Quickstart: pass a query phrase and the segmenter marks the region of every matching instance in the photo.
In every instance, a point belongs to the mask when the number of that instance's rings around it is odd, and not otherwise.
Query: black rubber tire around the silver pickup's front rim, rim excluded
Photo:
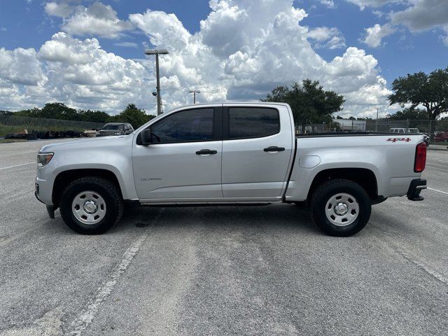
[[[104,199],[106,214],[101,221],[85,224],[78,220],[71,209],[74,197],[79,193],[92,190]],[[99,235],[120,221],[123,215],[123,200],[117,186],[109,180],[99,177],[83,177],[69,184],[62,193],[59,203],[62,219],[71,230],[83,235]],[[81,218],[82,219],[82,218]]]

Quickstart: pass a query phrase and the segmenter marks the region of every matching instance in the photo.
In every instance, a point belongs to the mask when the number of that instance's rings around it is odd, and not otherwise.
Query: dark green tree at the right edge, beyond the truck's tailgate
[[[393,94],[388,96],[391,105],[400,104],[404,108],[411,104],[411,110],[424,106],[426,118],[430,120],[448,112],[448,68],[437,69],[429,75],[422,71],[408,73],[393,80],[392,90]]]

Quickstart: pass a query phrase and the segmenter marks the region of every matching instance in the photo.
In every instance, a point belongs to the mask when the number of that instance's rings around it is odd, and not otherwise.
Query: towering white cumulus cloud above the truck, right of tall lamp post
[[[156,48],[172,48],[170,55],[161,57],[160,68],[165,76],[178,76],[183,90],[165,93],[169,106],[190,102],[191,87],[202,91],[201,102],[256,100],[276,85],[304,78],[321,80],[325,89],[344,93],[345,109],[351,113],[370,111],[373,104],[387,105],[390,92],[379,76],[377,60],[364,50],[348,48],[341,57],[325,62],[315,49],[343,48],[344,37],[334,28],[300,25],[307,13],[291,1],[210,4],[212,11],[196,34],[167,13],[148,11],[130,17]]]

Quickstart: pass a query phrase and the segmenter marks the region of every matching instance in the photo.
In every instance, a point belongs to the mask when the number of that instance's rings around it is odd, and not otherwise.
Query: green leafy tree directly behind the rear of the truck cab
[[[264,102],[288,103],[296,124],[331,123],[332,113],[342,111],[345,99],[334,91],[325,91],[317,80],[304,79],[302,85],[279,86],[267,94]]]

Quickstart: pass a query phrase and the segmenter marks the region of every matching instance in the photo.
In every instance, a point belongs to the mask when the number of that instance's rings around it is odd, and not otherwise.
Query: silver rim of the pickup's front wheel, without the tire
[[[94,225],[106,216],[106,202],[102,195],[95,191],[83,191],[73,198],[71,211],[81,223]]]

